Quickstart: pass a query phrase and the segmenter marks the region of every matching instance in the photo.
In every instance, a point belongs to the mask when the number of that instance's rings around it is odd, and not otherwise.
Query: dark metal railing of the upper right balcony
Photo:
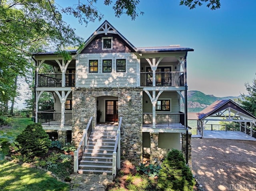
[[[153,73],[140,73],[141,86],[153,86]],[[184,86],[184,72],[156,72],[156,86]]]

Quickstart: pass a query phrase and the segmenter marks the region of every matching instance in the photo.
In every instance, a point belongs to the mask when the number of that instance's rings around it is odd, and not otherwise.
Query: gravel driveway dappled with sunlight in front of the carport
[[[256,141],[193,139],[192,172],[205,191],[256,191]]]

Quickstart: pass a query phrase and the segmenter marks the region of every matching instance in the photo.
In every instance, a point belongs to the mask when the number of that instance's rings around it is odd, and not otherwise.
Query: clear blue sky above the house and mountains
[[[61,6],[78,0],[57,0]],[[219,10],[205,5],[189,10],[179,0],[141,0],[144,12],[132,21],[114,16],[111,6],[98,0],[104,19],[80,25],[72,16],[63,16],[76,33],[87,39],[108,20],[136,47],[181,45],[188,53],[188,90],[218,97],[247,93],[244,83],[252,83],[256,73],[256,0],[220,0]]]

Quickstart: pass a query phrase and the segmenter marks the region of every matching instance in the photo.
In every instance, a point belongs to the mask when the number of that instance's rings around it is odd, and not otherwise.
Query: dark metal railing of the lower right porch
[[[156,127],[184,128],[184,113],[156,114]],[[143,127],[153,127],[153,114],[143,113]]]

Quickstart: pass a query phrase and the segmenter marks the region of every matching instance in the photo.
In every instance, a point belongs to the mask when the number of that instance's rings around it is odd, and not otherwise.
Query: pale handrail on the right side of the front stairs
[[[121,163],[120,163],[121,124],[122,124],[122,117],[119,118],[118,130],[117,130],[117,134],[116,134],[116,143],[115,143],[114,151],[112,154],[112,158],[113,158],[112,159],[112,175],[114,175],[114,177],[116,176],[116,169],[120,169],[120,167],[121,167]]]

